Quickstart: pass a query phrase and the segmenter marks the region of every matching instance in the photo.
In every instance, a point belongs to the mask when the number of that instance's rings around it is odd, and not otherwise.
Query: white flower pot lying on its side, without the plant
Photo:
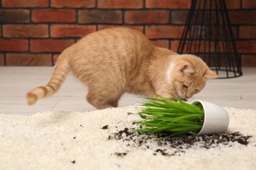
[[[226,131],[229,124],[229,116],[226,110],[218,105],[201,100],[192,101],[192,105],[202,107],[204,112],[203,127],[196,135],[210,135]]]

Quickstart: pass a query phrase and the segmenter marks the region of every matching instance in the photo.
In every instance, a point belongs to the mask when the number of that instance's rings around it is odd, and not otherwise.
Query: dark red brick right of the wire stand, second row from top
[[[256,24],[256,11],[230,11],[228,12],[231,24]]]

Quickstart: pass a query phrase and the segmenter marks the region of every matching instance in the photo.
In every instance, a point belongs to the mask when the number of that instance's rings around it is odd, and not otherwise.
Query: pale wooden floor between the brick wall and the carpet
[[[189,101],[202,99],[217,105],[256,110],[256,67],[242,69],[238,78],[209,80],[202,92]],[[0,67],[0,114],[34,114],[49,110],[95,110],[85,100],[87,88],[70,73],[60,91],[49,99],[26,105],[25,95],[47,84],[53,67]],[[139,103],[136,95],[125,94],[119,106]]]

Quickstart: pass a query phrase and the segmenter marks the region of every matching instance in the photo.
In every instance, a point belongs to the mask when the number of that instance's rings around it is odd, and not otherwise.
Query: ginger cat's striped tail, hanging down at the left
[[[33,105],[37,102],[38,99],[43,99],[45,97],[50,97],[54,93],[56,93],[59,89],[68,72],[70,71],[70,56],[68,56],[70,52],[64,50],[62,54],[58,57],[56,61],[56,65],[54,66],[53,75],[49,80],[46,86],[40,86],[30,90],[27,93],[26,99],[28,105]]]

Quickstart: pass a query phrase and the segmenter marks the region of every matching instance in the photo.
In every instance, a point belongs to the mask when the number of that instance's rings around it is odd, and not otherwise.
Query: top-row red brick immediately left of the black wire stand
[[[188,0],[146,0],[147,9],[190,9]]]

